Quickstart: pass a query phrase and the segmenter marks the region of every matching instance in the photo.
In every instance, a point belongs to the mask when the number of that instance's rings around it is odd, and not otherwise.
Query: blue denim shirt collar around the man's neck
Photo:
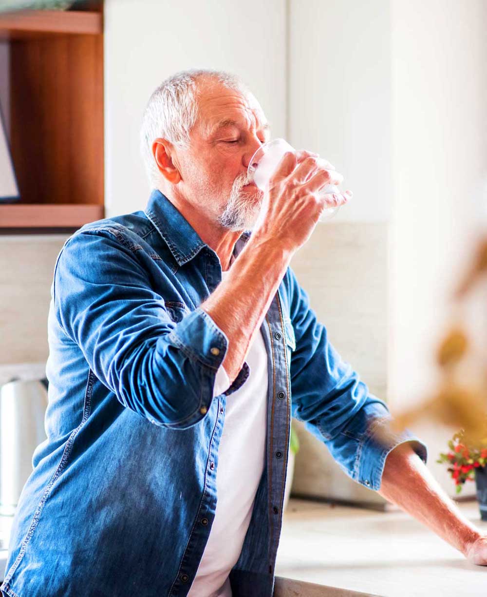
[[[150,193],[144,213],[168,245],[179,266],[193,259],[203,247],[208,247],[189,221],[159,189],[153,189]],[[250,235],[249,230],[242,233],[235,243],[235,256],[244,248]]]

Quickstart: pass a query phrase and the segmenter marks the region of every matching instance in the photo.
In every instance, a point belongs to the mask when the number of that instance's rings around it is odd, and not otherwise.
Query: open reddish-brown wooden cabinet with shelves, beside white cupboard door
[[[3,233],[103,218],[103,6],[90,8],[0,14],[21,196],[0,203]]]

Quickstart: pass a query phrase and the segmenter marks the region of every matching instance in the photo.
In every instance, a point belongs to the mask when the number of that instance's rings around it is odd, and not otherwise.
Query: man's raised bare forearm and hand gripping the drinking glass
[[[269,183],[252,236],[201,308],[229,340],[223,367],[235,379],[286,273],[292,255],[315,228],[325,199],[316,192],[343,177],[318,166],[309,152],[286,153]],[[341,205],[351,193],[326,199]]]

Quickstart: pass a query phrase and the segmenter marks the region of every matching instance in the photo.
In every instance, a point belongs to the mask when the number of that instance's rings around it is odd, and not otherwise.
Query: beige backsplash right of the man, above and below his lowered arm
[[[291,263],[328,337],[371,393],[387,398],[387,223],[318,225]],[[383,504],[342,472],[326,447],[293,420],[300,438],[292,493]]]

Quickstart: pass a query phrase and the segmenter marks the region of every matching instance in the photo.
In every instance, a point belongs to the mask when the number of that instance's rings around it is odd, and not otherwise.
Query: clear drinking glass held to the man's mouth
[[[249,163],[247,174],[249,182],[255,183],[260,190],[266,190],[270,177],[278,167],[282,156],[288,151],[295,152],[295,149],[284,139],[272,139],[261,145]],[[327,195],[329,193],[338,193],[341,195],[340,189],[334,184],[326,184],[320,189],[320,195]],[[340,205],[325,208],[319,217],[319,221],[328,220],[339,209]]]

